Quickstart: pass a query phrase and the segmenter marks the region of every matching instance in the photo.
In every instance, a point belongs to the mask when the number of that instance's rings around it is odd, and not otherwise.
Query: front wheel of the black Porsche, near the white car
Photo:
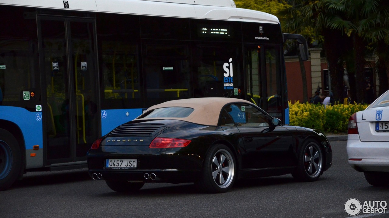
[[[323,173],[323,152],[316,140],[306,140],[298,153],[297,167],[292,176],[301,182],[313,182]]]

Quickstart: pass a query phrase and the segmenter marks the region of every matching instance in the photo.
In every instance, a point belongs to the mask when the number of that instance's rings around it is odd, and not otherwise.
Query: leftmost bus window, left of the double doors
[[[0,31],[0,89],[3,106],[35,111],[35,100],[40,97],[39,66],[35,64],[38,62],[37,25],[36,20],[23,18],[24,13],[32,13],[28,11],[0,8],[0,18],[12,20],[3,22]],[[28,96],[23,98],[26,92]]]

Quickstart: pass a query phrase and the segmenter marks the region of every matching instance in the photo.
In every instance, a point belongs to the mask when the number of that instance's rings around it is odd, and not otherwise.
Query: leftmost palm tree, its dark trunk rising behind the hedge
[[[305,1],[287,0],[291,5],[288,13],[291,15],[284,25],[284,30],[300,33],[308,38],[323,39],[324,52],[327,55],[329,72],[332,78],[335,98],[341,96],[343,87],[343,57],[350,47],[343,31],[330,28],[329,16],[336,13],[336,9],[328,7],[328,0]],[[311,36],[307,35],[310,34]]]

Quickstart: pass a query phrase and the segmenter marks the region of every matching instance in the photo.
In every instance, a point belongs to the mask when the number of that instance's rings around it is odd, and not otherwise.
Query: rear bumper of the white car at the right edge
[[[347,156],[350,166],[356,171],[389,172],[388,142],[361,142],[357,135],[349,135],[347,140]]]

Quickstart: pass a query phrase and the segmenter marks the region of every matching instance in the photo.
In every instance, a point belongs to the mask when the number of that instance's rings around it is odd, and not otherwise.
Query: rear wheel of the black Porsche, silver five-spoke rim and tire
[[[196,186],[207,193],[223,193],[231,189],[236,177],[236,161],[231,150],[223,144],[210,147]]]

